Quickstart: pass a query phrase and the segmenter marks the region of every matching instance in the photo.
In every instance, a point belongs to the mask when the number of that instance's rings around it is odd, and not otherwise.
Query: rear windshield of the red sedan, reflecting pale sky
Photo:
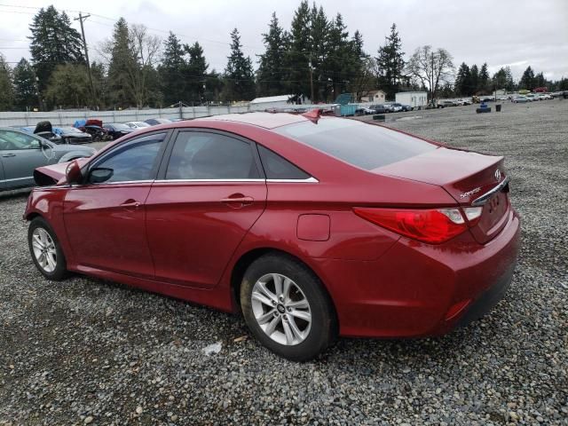
[[[438,147],[395,130],[343,118],[321,118],[317,124],[298,122],[274,131],[365,170]]]

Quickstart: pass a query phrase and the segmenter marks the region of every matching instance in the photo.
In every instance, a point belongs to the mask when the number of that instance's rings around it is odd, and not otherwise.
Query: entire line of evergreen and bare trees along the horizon
[[[52,5],[30,24],[30,57],[15,67],[0,53],[0,110],[91,107],[100,109],[204,105],[292,94],[297,102],[332,102],[341,93],[358,101],[381,89],[387,99],[397,91],[424,90],[429,98],[514,91],[568,90],[568,79],[548,82],[527,67],[516,83],[509,67],[493,76],[487,64],[462,63],[455,73],[452,55],[424,45],[408,58],[395,24],[375,54],[363,49],[363,36],[352,35],[341,13],[328,17],[322,6],[302,1],[289,29],[275,13],[262,35],[264,52],[253,60],[242,51],[237,28],[230,33],[230,54],[223,71],[209,69],[201,44],[182,43],[170,32],[162,40],[143,25],[123,18],[91,62],[91,80],[83,40],[66,12]],[[257,67],[255,69],[255,63]]]

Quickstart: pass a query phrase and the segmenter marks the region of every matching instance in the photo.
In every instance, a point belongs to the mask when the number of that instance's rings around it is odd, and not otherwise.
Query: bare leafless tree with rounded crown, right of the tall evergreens
[[[429,91],[430,99],[436,97],[441,83],[449,83],[454,75],[452,55],[446,49],[433,50],[432,46],[419,47],[406,63],[406,72]]]

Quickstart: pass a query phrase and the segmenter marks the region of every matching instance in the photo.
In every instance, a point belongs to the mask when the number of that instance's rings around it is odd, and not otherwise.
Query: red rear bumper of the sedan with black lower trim
[[[433,246],[401,238],[376,261],[319,259],[313,265],[335,302],[340,334],[443,335],[497,304],[512,279],[520,241],[517,213],[492,241],[465,233]]]

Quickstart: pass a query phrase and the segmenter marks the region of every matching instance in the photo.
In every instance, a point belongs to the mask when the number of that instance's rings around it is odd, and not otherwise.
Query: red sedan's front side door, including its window
[[[67,191],[63,218],[77,264],[153,277],[146,241],[145,201],[165,148],[167,132],[131,138],[89,165],[86,182]],[[95,169],[111,169],[91,183]]]

